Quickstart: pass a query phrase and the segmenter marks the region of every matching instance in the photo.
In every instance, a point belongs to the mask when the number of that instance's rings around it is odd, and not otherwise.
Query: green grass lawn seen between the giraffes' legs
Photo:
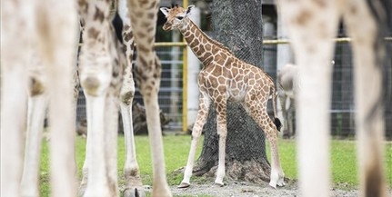
[[[189,135],[167,135],[164,136],[166,173],[170,185],[181,182],[183,175],[174,174],[176,169],[186,165],[187,154],[189,152],[191,137]],[[203,142],[199,142],[196,158],[201,152]],[[392,143],[386,143],[386,163],[387,163],[387,184],[392,187]],[[269,147],[267,148],[269,158]],[[137,162],[143,183],[152,184],[152,165],[150,147],[147,136],[136,136]],[[331,168],[334,187],[352,189],[357,186],[357,149],[355,141],[333,140],[331,143]],[[286,177],[297,178],[296,142],[294,140],[279,140],[279,156]],[[41,196],[49,196],[49,153],[48,144],[43,143],[41,160]],[[85,139],[76,138],[76,163],[78,176],[81,179],[81,169],[85,158]],[[124,184],[122,178],[125,160],[124,137],[119,136],[118,140],[118,177],[119,184]]]

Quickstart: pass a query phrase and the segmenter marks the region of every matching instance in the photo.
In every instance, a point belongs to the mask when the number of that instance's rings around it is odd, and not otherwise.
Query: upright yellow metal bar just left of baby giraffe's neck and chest
[[[188,0],[183,1],[183,7],[188,6]],[[187,125],[188,125],[188,103],[187,103],[187,96],[188,96],[188,56],[187,56],[187,47],[186,47],[186,41],[183,39],[183,43],[185,44],[184,50],[183,50],[183,133],[186,133],[187,130]]]

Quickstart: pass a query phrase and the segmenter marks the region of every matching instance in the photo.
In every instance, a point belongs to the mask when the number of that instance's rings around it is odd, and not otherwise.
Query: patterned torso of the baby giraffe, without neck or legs
[[[229,51],[218,51],[213,60],[198,76],[200,91],[213,96],[215,91],[226,93],[226,100],[244,102],[246,94],[269,97],[271,88],[275,89],[272,78],[261,68],[247,64]]]

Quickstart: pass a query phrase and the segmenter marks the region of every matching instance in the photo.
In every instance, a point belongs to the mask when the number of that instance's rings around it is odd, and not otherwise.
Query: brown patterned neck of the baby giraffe
[[[230,53],[230,50],[225,45],[210,38],[192,20],[189,18],[185,20],[186,25],[183,28],[179,28],[179,31],[184,35],[186,43],[204,65],[213,61],[214,54],[217,54],[219,51]]]

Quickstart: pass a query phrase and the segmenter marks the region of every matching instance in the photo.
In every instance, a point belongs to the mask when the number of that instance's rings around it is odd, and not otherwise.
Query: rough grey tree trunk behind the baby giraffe
[[[261,66],[261,1],[213,1],[214,38],[228,46],[236,57]],[[212,106],[213,104],[211,104]],[[214,176],[218,158],[216,112],[210,107],[203,129],[203,150],[196,162],[196,175]],[[270,165],[266,159],[263,131],[238,103],[227,104],[226,177],[237,181],[268,182]]]

